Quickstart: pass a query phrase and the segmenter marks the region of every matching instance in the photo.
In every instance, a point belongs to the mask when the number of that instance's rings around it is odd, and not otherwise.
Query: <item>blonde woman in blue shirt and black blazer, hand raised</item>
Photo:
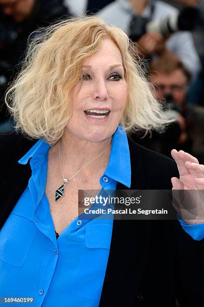
[[[133,51],[97,17],[63,21],[30,46],[7,101],[17,129],[40,139],[20,150],[18,166],[3,168],[3,209],[14,209],[0,233],[1,296],[34,297],[36,306],[200,301],[202,225],[182,222],[195,241],[177,221],[78,217],[79,189],[171,189],[170,180],[174,189],[203,187],[196,158],[172,150],[178,174],[172,160],[127,138],[125,130],[172,121]],[[183,271],[186,254],[193,270]]]

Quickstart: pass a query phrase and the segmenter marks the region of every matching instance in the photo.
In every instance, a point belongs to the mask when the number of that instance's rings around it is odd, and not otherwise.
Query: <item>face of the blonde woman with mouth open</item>
[[[73,91],[67,132],[100,142],[117,129],[127,99],[119,49],[110,39],[104,39],[99,51],[85,60],[82,71],[82,86],[77,85]]]

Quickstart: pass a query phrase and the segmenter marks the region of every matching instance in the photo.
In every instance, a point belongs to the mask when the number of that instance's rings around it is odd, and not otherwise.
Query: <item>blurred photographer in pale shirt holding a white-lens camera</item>
[[[116,0],[102,9],[98,15],[131,35],[130,27],[134,18],[158,21],[167,16],[172,16],[173,19],[177,14],[177,9],[158,0]],[[200,70],[200,60],[192,35],[188,31],[175,32],[168,38],[151,30],[144,33],[137,43],[140,46],[140,53],[148,59],[150,55],[160,54],[165,46],[177,55],[193,76]]]

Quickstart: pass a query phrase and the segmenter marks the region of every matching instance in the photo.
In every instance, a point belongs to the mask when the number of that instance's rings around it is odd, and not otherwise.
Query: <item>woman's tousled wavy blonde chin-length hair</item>
[[[100,48],[104,38],[119,48],[128,85],[120,124],[126,131],[163,131],[172,122],[140,68],[135,45],[120,29],[99,17],[70,18],[38,30],[28,44],[21,72],[6,94],[15,128],[31,138],[55,144],[72,115],[72,92],[80,82],[86,58]]]

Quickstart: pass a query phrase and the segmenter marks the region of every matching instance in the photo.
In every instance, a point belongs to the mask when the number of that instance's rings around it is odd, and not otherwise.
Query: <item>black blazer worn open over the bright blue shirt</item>
[[[12,143],[11,143],[12,140]],[[173,160],[128,138],[130,189],[171,189],[178,177]],[[35,141],[1,136],[1,225],[31,176],[30,165],[17,161]],[[125,189],[117,184],[117,189]],[[204,306],[204,240],[195,241],[174,220],[114,220],[100,307]]]

